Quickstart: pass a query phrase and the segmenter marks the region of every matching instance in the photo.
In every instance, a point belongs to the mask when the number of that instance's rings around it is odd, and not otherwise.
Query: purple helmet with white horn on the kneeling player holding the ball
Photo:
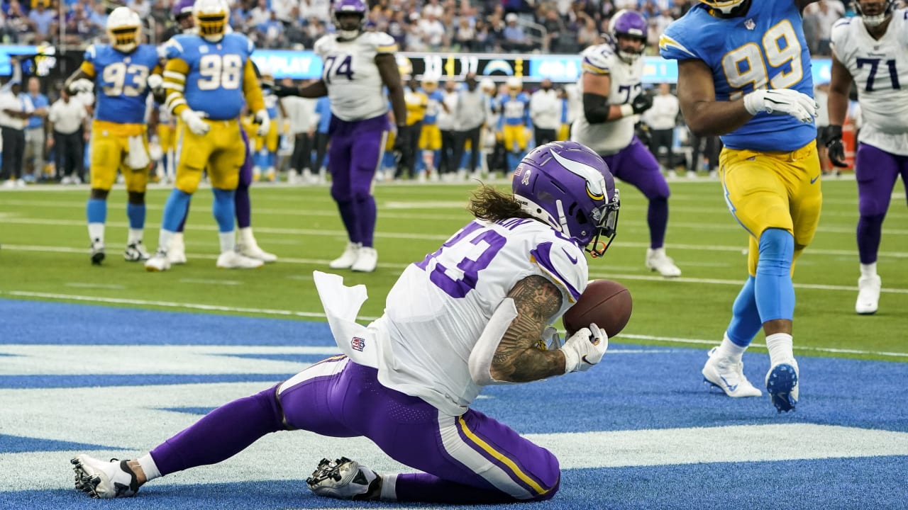
[[[615,178],[586,145],[540,145],[518,164],[511,189],[523,211],[577,241],[593,257],[601,257],[615,238],[620,206]]]

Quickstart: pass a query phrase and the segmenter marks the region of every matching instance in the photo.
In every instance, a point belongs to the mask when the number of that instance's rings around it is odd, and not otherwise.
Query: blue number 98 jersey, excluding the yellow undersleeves
[[[244,80],[248,79],[246,63],[254,49],[245,35],[237,33],[224,34],[217,43],[196,34],[181,34],[164,44],[168,59],[185,64],[186,103],[192,110],[216,121],[240,116],[245,104]],[[166,82],[168,76],[164,78]]]

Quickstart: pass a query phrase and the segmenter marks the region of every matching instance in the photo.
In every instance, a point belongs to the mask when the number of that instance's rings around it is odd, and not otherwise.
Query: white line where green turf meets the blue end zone
[[[202,309],[202,310],[216,310],[216,311],[232,311],[232,312],[244,312],[244,313],[257,313],[260,315],[277,315],[281,317],[296,316],[296,317],[308,317],[308,318],[318,318],[323,319],[325,317],[324,313],[315,313],[315,312],[305,312],[305,311],[294,311],[294,310],[283,310],[283,309],[250,309],[250,308],[235,308],[235,307],[225,307],[220,305],[203,305],[199,303],[175,303],[171,301],[149,301],[144,299],[125,299],[125,298],[100,298],[95,296],[78,296],[73,294],[55,294],[49,292],[31,292],[25,290],[0,290],[0,296],[18,296],[23,298],[42,298],[42,299],[61,299],[61,300],[71,300],[71,301],[86,301],[86,302],[95,302],[95,303],[110,303],[110,304],[127,304],[127,305],[143,305],[143,306],[160,306],[173,309]],[[360,321],[370,321],[378,319],[377,317],[362,316],[357,318]],[[658,340],[662,342],[671,342],[679,344],[703,344],[703,345],[716,345],[718,344],[718,339],[700,339],[700,338],[674,338],[674,337],[656,337],[650,335],[634,335],[621,333],[619,335],[621,338],[637,338],[645,340]],[[753,347],[765,348],[765,344],[751,344]],[[829,353],[842,353],[842,354],[864,354],[864,355],[873,355],[873,356],[892,356],[892,357],[905,357],[908,358],[908,353],[905,352],[888,352],[888,351],[875,351],[875,350],[857,350],[857,349],[844,349],[844,348],[801,348],[796,347],[795,350],[809,350],[815,352],[829,352]],[[611,351],[609,351],[611,352]]]

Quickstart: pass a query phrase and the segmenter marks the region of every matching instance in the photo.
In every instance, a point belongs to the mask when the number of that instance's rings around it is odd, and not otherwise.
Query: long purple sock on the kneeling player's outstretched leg
[[[151,454],[161,475],[216,464],[240,453],[270,432],[283,430],[281,409],[270,387],[252,397],[224,404],[191,427],[155,447]]]

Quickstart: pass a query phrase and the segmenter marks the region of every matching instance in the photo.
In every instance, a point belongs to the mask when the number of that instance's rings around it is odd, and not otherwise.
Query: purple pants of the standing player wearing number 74
[[[371,247],[377,212],[372,178],[379,168],[389,130],[388,116],[346,122],[332,116],[328,134],[331,198],[338,204],[350,242]]]

